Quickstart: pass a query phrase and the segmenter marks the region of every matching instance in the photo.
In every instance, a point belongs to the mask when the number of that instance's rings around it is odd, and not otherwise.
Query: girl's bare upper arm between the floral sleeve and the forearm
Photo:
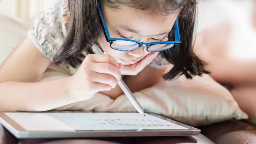
[[[0,82],[35,82],[50,63],[27,37],[0,67]]]

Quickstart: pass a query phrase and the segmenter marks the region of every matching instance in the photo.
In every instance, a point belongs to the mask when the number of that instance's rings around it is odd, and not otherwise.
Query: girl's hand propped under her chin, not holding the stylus
[[[140,71],[144,69],[144,67],[146,67],[149,63],[152,62],[152,60],[158,55],[158,53],[159,52],[149,53],[143,59],[136,62],[135,64],[124,65],[123,68],[120,69],[122,75],[137,75]]]

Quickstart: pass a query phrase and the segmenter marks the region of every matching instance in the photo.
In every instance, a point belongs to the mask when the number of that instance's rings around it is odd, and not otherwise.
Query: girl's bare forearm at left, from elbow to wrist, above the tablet
[[[0,111],[46,111],[76,102],[68,90],[66,78],[24,83],[0,83]]]

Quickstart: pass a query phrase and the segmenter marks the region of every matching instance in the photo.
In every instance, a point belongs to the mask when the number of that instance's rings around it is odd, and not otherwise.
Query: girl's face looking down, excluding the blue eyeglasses
[[[168,33],[176,20],[178,13],[171,15],[157,15],[150,11],[138,10],[128,6],[112,9],[104,6],[104,21],[113,38],[129,38],[144,43],[167,41]],[[110,47],[104,35],[99,44],[106,54],[111,55],[123,65],[131,65],[140,61],[150,52],[145,46],[132,51],[118,51]]]

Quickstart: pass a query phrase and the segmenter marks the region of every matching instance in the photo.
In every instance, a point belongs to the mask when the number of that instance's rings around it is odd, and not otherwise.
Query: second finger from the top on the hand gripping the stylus
[[[119,64],[118,64],[119,67]],[[121,78],[121,71],[109,63],[93,63],[91,70],[97,73],[109,74],[115,77],[116,80]]]

